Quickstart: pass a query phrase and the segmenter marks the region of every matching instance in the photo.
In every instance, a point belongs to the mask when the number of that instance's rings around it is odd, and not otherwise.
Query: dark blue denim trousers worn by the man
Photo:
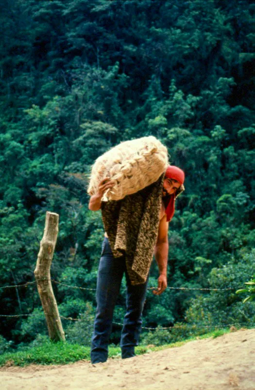
[[[125,255],[115,258],[109,240],[104,237],[97,279],[97,311],[91,342],[91,362],[105,362],[112,330],[113,312],[119,295],[121,280],[126,277],[126,314],[120,338],[121,357],[135,356],[142,326],[142,311],[147,291],[146,283],[133,286],[127,273]]]

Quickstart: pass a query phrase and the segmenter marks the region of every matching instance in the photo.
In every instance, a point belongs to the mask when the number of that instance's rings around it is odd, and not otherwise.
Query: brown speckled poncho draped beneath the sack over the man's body
[[[114,257],[125,254],[133,285],[145,283],[153,260],[164,174],[136,194],[102,202],[102,221]]]

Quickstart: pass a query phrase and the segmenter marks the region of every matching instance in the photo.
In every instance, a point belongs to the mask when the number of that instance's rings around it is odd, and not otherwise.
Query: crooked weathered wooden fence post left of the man
[[[46,213],[44,234],[40,242],[40,251],[34,276],[46,317],[50,339],[53,341],[65,341],[65,333],[51,285],[51,262],[58,234],[58,217],[59,215],[56,213],[50,213],[49,211]]]

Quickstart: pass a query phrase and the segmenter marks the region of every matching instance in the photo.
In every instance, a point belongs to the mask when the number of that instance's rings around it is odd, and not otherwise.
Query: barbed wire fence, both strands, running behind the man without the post
[[[20,287],[27,287],[27,286],[30,286],[30,285],[34,285],[37,281],[49,281],[51,280],[51,282],[55,283],[56,285],[61,285],[61,286],[64,286],[64,287],[67,287],[69,289],[79,289],[79,290],[88,290],[88,291],[96,291],[96,288],[87,288],[87,287],[80,287],[80,286],[72,286],[72,285],[69,285],[69,284],[66,284],[66,283],[63,283],[63,282],[59,282],[55,279],[37,279],[37,280],[34,280],[34,281],[31,281],[31,282],[26,282],[26,283],[23,283],[23,284],[16,284],[16,285],[7,285],[7,286],[1,286],[0,287],[0,290],[3,290],[3,289],[12,289],[12,288],[20,288]],[[231,290],[238,290],[240,289],[241,287],[227,287],[227,288],[223,288],[223,289],[217,289],[217,288],[191,288],[191,287],[167,287],[168,290],[179,290],[179,291],[204,291],[204,292],[217,292],[217,291],[231,291]],[[156,287],[148,287],[147,290],[156,290],[157,288]],[[47,316],[47,315],[51,315],[51,314],[47,314],[47,313],[44,313],[44,312],[41,312],[41,313],[24,313],[24,314],[0,314],[0,317],[2,318],[19,318],[19,317],[38,317],[38,316]],[[88,319],[84,319],[84,318],[72,318],[72,317],[65,317],[65,316],[62,316],[60,315],[60,318],[63,319],[63,320],[68,320],[68,321],[76,321],[76,322],[93,322],[94,321],[94,318],[88,318]],[[113,322],[113,325],[119,325],[119,326],[123,326],[122,323],[119,323],[119,322]],[[240,326],[247,326],[247,322],[245,323],[240,323],[240,322],[233,322],[233,323],[230,323],[230,324],[224,324],[224,325],[203,325],[203,326],[199,326],[199,325],[188,325],[188,324],[185,324],[185,325],[172,325],[172,326],[169,326],[169,327],[160,327],[159,329],[160,330],[171,330],[171,329],[213,329],[213,328],[229,328],[229,327],[232,327],[232,326],[235,326],[235,327],[240,327]],[[253,326],[255,325],[255,323],[250,323],[249,326]],[[152,328],[152,327],[142,327],[142,329],[144,330],[147,330],[147,331],[156,331],[158,328]]]

